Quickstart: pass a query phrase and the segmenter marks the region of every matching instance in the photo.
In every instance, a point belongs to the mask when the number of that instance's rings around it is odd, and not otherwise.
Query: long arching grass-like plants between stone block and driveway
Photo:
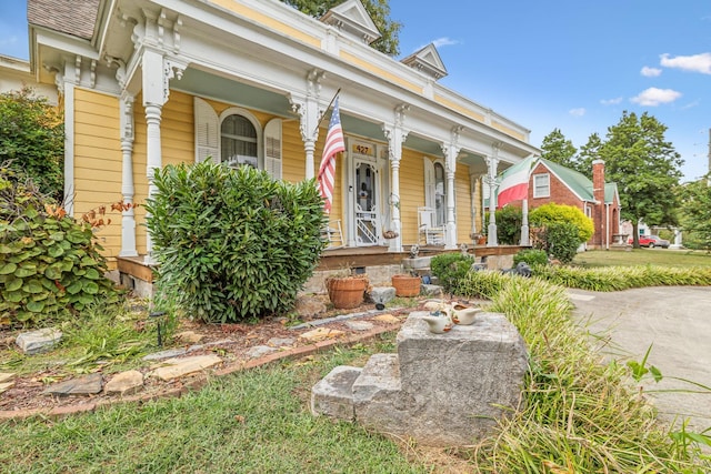
[[[507,314],[530,353],[525,403],[482,441],[477,472],[708,472],[698,447],[657,422],[629,370],[600,364],[563,288],[494,272],[467,278],[497,288],[488,310]]]

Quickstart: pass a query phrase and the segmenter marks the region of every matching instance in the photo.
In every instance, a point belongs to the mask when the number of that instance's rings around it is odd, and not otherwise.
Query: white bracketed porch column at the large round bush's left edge
[[[163,104],[168,102],[170,93],[169,81],[173,78],[182,78],[186,64],[163,58],[163,54],[150,49],[143,51],[143,107],[146,108],[146,175],[148,178],[148,198],[156,195],[153,183],[156,169],[163,165],[161,154],[160,122],[162,120]],[[149,215],[147,214],[147,219]],[[153,244],[150,232],[146,234],[146,263],[154,263],[151,256]]]

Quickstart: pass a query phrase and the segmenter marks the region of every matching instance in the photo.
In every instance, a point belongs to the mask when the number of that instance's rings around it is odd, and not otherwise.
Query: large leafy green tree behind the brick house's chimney
[[[632,222],[634,246],[639,246],[639,221],[647,225],[674,225],[681,178],[681,155],[664,140],[667,125],[644,112],[622,112],[617,125],[608,128],[600,147],[605,179],[620,191],[622,218]]]

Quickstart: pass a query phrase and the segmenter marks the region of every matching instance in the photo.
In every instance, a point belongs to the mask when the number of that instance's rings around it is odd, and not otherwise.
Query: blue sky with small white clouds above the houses
[[[577,148],[624,110],[668,127],[685,179],[708,171],[711,2],[708,0],[390,0],[401,58],[434,42],[440,83]],[[27,59],[24,0],[0,0],[0,53]]]

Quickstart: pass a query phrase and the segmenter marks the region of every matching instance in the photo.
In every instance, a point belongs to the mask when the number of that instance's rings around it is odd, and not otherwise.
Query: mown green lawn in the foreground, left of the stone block
[[[211,381],[181,399],[60,421],[0,424],[8,473],[428,473],[393,441],[309,412],[331,367],[394,349],[394,334]]]

